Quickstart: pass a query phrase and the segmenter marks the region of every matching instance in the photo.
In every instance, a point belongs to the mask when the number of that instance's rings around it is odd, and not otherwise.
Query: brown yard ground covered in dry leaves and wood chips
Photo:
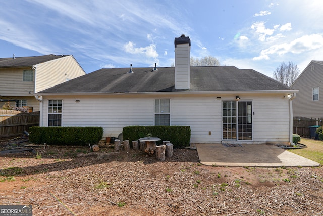
[[[8,143],[0,143],[5,149]],[[33,147],[0,155],[0,204],[33,215],[322,215],[321,167],[213,167],[194,149]]]

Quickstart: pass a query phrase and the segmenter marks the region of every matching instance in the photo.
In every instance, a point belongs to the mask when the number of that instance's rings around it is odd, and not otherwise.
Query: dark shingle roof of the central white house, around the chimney
[[[175,90],[174,67],[100,69],[40,93],[125,93],[172,91],[272,91],[292,90],[252,69],[234,66],[190,67],[190,89]]]

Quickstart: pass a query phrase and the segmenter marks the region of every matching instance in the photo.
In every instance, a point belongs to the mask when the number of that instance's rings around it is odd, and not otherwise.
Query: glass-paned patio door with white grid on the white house
[[[223,140],[252,140],[252,102],[222,102]]]

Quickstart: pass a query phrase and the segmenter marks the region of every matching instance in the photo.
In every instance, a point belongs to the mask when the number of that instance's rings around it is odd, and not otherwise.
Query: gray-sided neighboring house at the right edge
[[[292,84],[298,89],[293,100],[293,115],[306,118],[323,117],[323,61],[311,61]]]

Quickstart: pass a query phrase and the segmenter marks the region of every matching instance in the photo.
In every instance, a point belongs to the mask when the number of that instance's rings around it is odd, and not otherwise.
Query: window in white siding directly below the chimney
[[[155,126],[170,125],[170,99],[155,99]]]

